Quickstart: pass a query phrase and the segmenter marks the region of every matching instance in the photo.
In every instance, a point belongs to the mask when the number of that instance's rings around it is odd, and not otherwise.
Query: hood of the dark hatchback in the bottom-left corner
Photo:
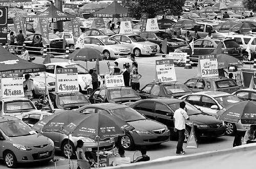
[[[15,144],[24,145],[24,146],[40,146],[49,144],[51,139],[41,135],[41,134],[32,134],[18,137],[9,137],[10,141]]]

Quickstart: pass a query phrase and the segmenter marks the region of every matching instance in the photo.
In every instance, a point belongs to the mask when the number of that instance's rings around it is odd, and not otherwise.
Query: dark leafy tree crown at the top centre
[[[131,17],[140,18],[141,12],[148,13],[150,18],[157,14],[180,15],[185,0],[121,0],[128,8]]]

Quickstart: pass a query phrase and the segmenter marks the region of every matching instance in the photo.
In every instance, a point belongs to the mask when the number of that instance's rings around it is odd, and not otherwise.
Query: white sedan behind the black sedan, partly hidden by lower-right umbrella
[[[190,104],[200,108],[208,115],[217,117],[217,111],[225,107],[231,106],[234,103],[238,103],[241,100],[236,96],[233,96],[225,92],[198,92],[181,96],[180,99],[187,101]],[[236,132],[236,125],[234,123],[226,123],[226,134],[232,135]]]

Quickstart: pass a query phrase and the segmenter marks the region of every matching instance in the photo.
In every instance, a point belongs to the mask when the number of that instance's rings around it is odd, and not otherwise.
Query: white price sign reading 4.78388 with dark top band
[[[55,91],[58,93],[79,92],[77,68],[56,69]]]

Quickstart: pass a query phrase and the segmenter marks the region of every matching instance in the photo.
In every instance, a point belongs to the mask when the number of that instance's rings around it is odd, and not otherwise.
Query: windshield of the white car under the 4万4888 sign
[[[22,101],[8,101],[4,103],[4,111],[9,113],[9,111],[18,111],[18,110],[29,110],[36,109],[33,103],[29,100]]]

